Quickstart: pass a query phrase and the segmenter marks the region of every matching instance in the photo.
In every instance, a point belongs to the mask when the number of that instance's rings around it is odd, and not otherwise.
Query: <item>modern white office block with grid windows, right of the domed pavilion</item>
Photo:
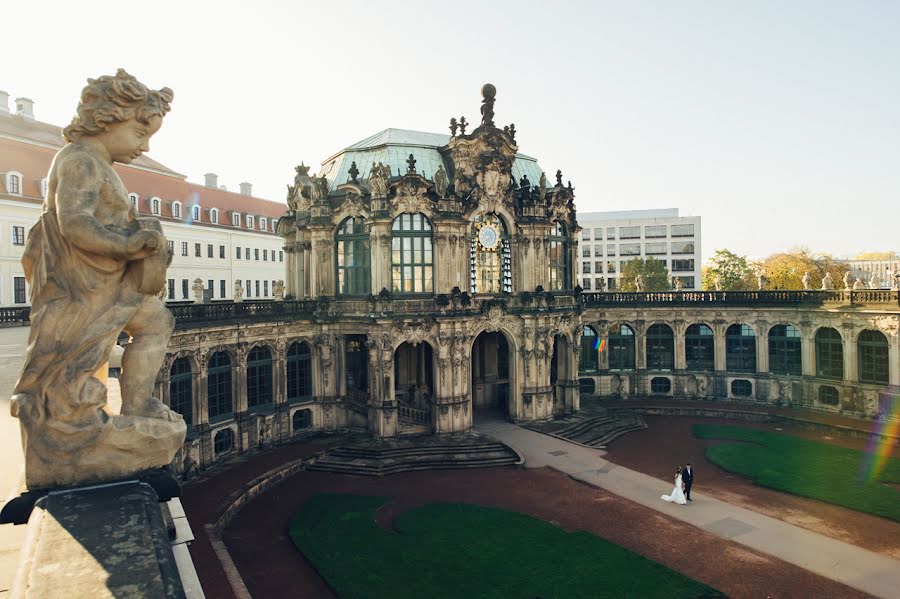
[[[678,208],[579,212],[578,281],[586,292],[619,288],[624,263],[655,258],[683,289],[700,289],[700,217]]]

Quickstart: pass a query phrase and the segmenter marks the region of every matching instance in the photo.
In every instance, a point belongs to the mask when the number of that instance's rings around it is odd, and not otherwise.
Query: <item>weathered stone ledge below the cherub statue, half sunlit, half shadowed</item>
[[[28,522],[11,599],[184,597],[159,505],[136,481],[50,493]]]

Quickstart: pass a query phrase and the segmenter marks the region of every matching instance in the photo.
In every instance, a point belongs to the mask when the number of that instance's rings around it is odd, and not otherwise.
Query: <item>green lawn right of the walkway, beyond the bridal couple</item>
[[[900,483],[900,460],[870,480],[864,451],[740,426],[697,424],[694,435],[746,442],[714,445],[706,457],[758,485],[900,521],[900,490],[890,485]]]

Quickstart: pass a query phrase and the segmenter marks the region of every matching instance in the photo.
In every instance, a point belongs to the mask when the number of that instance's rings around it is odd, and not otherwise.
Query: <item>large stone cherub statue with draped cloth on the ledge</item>
[[[31,332],[11,411],[30,490],[130,477],[169,464],[184,442],[181,415],[152,395],[175,324],[157,297],[171,255],[113,170],[149,149],[172,98],[120,69],[88,80],[63,130],[22,257]],[[96,374],[123,330],[122,410],[109,415]]]

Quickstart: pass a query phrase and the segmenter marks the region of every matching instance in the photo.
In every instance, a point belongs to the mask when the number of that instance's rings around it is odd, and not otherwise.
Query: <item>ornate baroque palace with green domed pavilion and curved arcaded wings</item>
[[[313,431],[462,432],[481,410],[546,420],[596,396],[896,416],[897,291],[586,293],[571,184],[482,93],[474,130],[388,129],[297,167],[284,301],[171,306],[157,383],[190,461]]]

